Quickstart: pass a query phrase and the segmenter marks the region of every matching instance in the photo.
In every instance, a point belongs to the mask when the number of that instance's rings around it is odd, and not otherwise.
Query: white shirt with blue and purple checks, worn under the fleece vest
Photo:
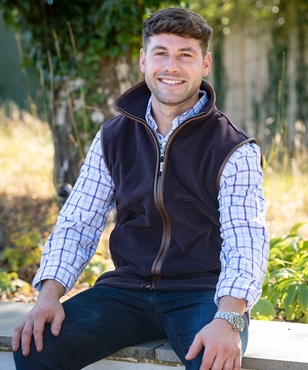
[[[195,115],[207,96],[172,122],[164,138],[151,115],[151,99],[146,121],[164,147],[173,129]],[[220,178],[219,211],[221,237],[221,273],[215,302],[230,295],[248,301],[251,309],[260,298],[267,269],[269,238],[265,224],[266,203],[262,190],[263,174],[260,148],[247,143],[231,155]],[[61,209],[54,232],[47,239],[41,265],[33,280],[38,291],[45,279],[60,282],[68,292],[95,253],[105,228],[107,216],[114,206],[115,187],[101,151],[100,132],[89,148],[81,174],[67,202]]]

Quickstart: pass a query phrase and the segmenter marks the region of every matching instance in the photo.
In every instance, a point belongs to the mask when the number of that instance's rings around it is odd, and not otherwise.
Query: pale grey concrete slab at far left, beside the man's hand
[[[33,306],[34,303],[0,302],[0,347],[11,347],[13,330]]]

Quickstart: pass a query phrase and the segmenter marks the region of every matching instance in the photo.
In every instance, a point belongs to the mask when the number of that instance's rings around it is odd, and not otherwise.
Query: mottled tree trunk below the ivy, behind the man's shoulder
[[[74,186],[95,134],[105,121],[118,114],[112,105],[115,98],[137,82],[130,55],[118,60],[101,61],[95,90],[104,94],[104,103],[90,107],[87,105],[87,96],[83,103],[81,84],[85,85],[86,82],[80,78],[64,78],[55,91],[54,124],[51,124],[51,128],[55,147],[54,185],[58,188],[58,194],[63,193],[63,184],[67,184],[68,188]],[[83,107],[87,112],[87,132],[82,118]],[[77,130],[74,129],[74,120]],[[68,194],[64,193],[60,196],[60,203],[65,200],[61,198],[67,198],[69,191]]]

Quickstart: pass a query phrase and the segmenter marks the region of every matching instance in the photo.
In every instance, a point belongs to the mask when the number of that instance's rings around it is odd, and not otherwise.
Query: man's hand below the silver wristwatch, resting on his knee
[[[214,319],[194,337],[186,360],[194,359],[204,347],[200,370],[240,370],[241,339],[224,319]]]

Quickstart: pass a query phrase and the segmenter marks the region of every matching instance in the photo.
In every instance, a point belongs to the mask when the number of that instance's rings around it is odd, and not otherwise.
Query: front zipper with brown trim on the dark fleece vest
[[[170,141],[171,137],[173,136],[173,134],[175,133],[175,131],[177,131],[177,129],[179,129],[179,127],[182,127],[183,124],[185,124],[188,120],[190,120],[190,118],[192,117],[189,117],[187,118],[187,120],[184,120],[182,121],[179,125],[177,125],[177,127],[171,132],[165,146],[162,148],[159,144],[159,139],[158,139],[158,136],[156,135],[156,132],[146,123],[146,121],[143,121],[141,118],[139,117],[135,117],[131,114],[129,114],[128,112],[125,112],[122,108],[119,108],[118,109],[120,111],[122,111],[123,113],[125,113],[126,115],[128,115],[130,118],[135,118],[137,121],[139,122],[142,122],[146,125],[147,128],[150,129],[150,131],[153,133],[154,137],[156,138],[156,142],[158,144],[158,147],[160,148],[160,157],[159,157],[159,172],[158,172],[158,179],[157,179],[157,188],[156,188],[156,195],[157,195],[157,202],[158,202],[158,206],[159,206],[159,209],[160,211],[162,211],[163,215],[165,215],[165,212],[163,211],[162,209],[162,206],[161,206],[161,203],[160,203],[160,182],[161,182],[161,179],[162,179],[162,172],[163,172],[163,166],[164,166],[164,160],[165,160],[165,149],[167,147],[167,144],[168,142]],[[203,115],[204,113],[199,113],[199,114],[196,114],[194,115],[193,117],[198,117],[199,115]],[[156,262],[156,265],[155,265],[155,270],[154,270],[154,275],[153,275],[153,278],[152,278],[152,282],[151,283],[146,283],[146,284],[142,284],[141,287],[143,288],[149,288],[149,289],[155,289],[155,286],[156,286],[156,283],[160,280],[161,276],[160,274],[158,274],[158,268],[159,268],[159,263],[162,259],[162,256],[163,256],[163,253],[165,252],[166,250],[166,247],[167,247],[167,244],[168,244],[168,235],[169,235],[169,230],[168,230],[168,225],[167,225],[167,222],[165,220],[162,220],[163,222],[165,222],[165,226],[166,226],[166,237],[165,237],[165,243],[164,243],[164,246],[163,246],[163,249],[162,249],[162,252],[160,253],[160,256]],[[156,255],[157,256],[157,255]]]

